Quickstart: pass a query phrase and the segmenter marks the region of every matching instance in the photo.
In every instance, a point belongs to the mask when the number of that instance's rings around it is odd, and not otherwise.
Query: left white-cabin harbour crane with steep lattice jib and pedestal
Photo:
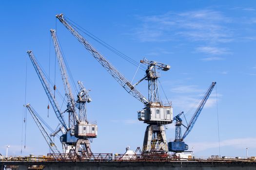
[[[76,141],[76,153],[78,153],[79,148],[83,148],[82,152],[91,153],[90,141],[89,138],[97,137],[97,125],[89,124],[87,121],[86,115],[86,102],[91,102],[91,98],[88,94],[88,91],[82,85],[80,81],[78,81],[80,92],[78,95],[78,109],[79,116],[76,111],[76,101],[74,99],[69,81],[68,75],[66,72],[66,67],[64,64],[64,58],[62,52],[59,47],[59,41],[56,34],[56,31],[51,29],[51,36],[54,43],[55,53],[58,58],[60,74],[62,78],[62,82],[65,89],[65,95],[67,96],[67,112],[69,113],[69,128],[71,130],[71,135],[77,137]]]

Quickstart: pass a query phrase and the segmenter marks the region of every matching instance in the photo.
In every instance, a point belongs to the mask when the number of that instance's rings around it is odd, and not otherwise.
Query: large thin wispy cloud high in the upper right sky
[[[214,10],[168,12],[163,15],[140,17],[142,24],[135,30],[141,41],[177,40],[180,35],[190,41],[210,43],[230,42],[232,31],[225,27],[231,18]]]

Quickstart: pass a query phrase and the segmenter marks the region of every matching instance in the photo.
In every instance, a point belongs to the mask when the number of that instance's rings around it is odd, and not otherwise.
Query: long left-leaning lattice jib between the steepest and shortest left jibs
[[[45,91],[45,93],[46,93],[46,95],[47,95],[47,97],[48,97],[48,99],[49,99],[49,101],[50,101],[50,103],[51,103],[51,105],[54,109],[54,112],[55,112],[57,118],[59,119],[59,122],[63,125],[63,127],[66,129],[66,131],[68,131],[69,128],[68,128],[63,116],[61,115],[58,102],[56,101],[56,99],[54,98],[54,95],[51,92],[50,86],[48,85],[48,83],[47,83],[47,81],[44,77],[42,69],[39,67],[39,64],[38,64],[33,52],[32,51],[27,51],[27,53],[28,53],[28,56],[29,56],[29,58],[30,58],[30,60],[31,60],[31,62],[32,62],[37,74],[38,74],[40,82],[41,82],[41,84],[44,88],[44,91]]]

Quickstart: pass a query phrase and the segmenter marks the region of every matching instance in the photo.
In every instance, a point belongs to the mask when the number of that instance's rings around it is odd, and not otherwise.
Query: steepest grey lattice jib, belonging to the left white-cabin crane
[[[67,96],[67,101],[68,101],[67,112],[69,113],[69,128],[74,129],[76,122],[79,121],[78,115],[76,113],[75,100],[72,94],[70,84],[68,82],[68,75],[67,75],[65,64],[63,61],[63,55],[59,48],[59,41],[56,35],[56,31],[51,29],[50,32],[52,35],[56,56],[58,58],[60,74],[61,74],[62,82],[65,89],[65,94]]]

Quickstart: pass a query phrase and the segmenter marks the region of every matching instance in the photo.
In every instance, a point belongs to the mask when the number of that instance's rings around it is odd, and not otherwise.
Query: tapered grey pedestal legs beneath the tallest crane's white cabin
[[[167,139],[163,125],[148,125],[143,142],[143,153],[167,153]]]

